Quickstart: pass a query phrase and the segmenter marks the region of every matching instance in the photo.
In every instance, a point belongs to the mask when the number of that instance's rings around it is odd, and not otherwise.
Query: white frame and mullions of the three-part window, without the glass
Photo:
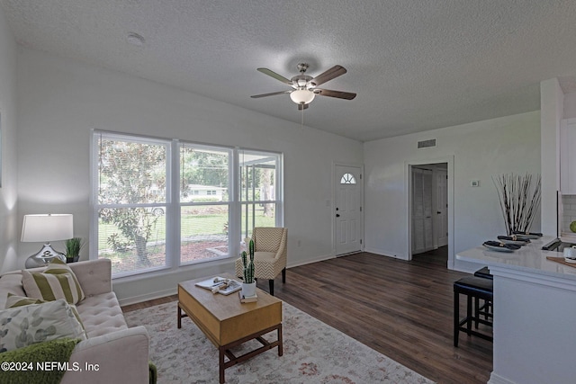
[[[118,138],[119,140],[133,140],[143,143],[166,144],[166,204],[147,203],[130,204],[144,207],[165,207],[166,215],[166,262],[162,267],[155,267],[146,270],[133,272],[112,273],[112,279],[122,278],[143,278],[149,273],[165,274],[170,271],[177,271],[180,268],[193,268],[200,263],[221,262],[223,259],[235,258],[243,246],[244,237],[241,231],[241,218],[243,204],[246,203],[274,203],[275,204],[275,226],[284,227],[284,155],[280,152],[269,150],[250,149],[242,147],[227,147],[218,144],[198,143],[177,138],[157,138],[145,135],[135,135],[130,133],[120,133],[102,129],[91,129],[90,136],[90,229],[89,229],[89,255],[90,259],[97,259],[98,255],[98,210],[103,208],[98,203],[98,174],[99,174],[99,153],[96,149],[99,138]],[[228,201],[202,201],[202,202],[181,202],[180,201],[180,148],[181,146],[191,146],[198,148],[213,149],[218,151],[228,151],[229,153],[229,198]],[[240,154],[254,154],[257,156],[271,156],[275,158],[275,199],[267,201],[241,201],[239,174]],[[193,191],[195,193],[196,191]],[[195,195],[191,193],[191,195]],[[198,196],[198,195],[196,195]],[[202,196],[202,195],[201,195]],[[211,195],[212,196],[212,195]],[[218,197],[218,194],[213,195]],[[181,208],[183,206],[194,205],[228,205],[229,207],[229,255],[215,256],[209,259],[196,260],[183,263],[181,261]],[[112,208],[112,206],[111,206]],[[126,208],[122,205],[119,208]],[[252,228],[250,228],[250,232]]]

